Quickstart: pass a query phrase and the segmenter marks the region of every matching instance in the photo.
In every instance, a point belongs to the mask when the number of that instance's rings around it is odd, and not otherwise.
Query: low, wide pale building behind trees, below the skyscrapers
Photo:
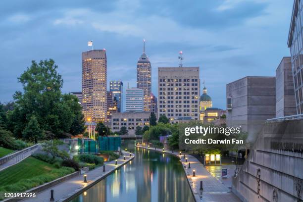
[[[128,130],[128,135],[135,135],[137,126],[144,127],[150,125],[151,112],[148,111],[129,111],[123,113],[112,113],[111,129],[113,132],[118,132],[121,127],[125,126]]]

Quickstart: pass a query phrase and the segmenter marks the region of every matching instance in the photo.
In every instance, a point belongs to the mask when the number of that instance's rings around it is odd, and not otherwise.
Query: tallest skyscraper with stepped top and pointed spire
[[[143,90],[144,111],[151,111],[152,92],[152,66],[150,59],[145,53],[145,40],[143,40],[143,54],[137,63],[137,88]]]

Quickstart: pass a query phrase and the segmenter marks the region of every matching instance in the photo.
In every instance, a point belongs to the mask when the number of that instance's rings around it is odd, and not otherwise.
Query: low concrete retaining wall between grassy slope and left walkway
[[[30,190],[27,190],[27,191],[24,191],[22,193],[34,193],[34,192],[39,193],[39,192],[42,192],[46,189],[49,189],[50,187],[52,187],[54,185],[57,185],[61,182],[64,182],[65,180],[69,180],[69,179],[71,179],[75,176],[78,176],[78,175],[80,175],[79,171],[68,174],[68,175],[65,175],[63,177],[60,177],[60,178],[55,179],[53,181],[47,182],[47,183],[45,183],[43,185],[40,185],[38,187],[34,187],[34,188],[32,188]],[[19,201],[22,201],[22,200],[24,200],[24,199],[9,198],[9,199],[3,200],[2,202],[19,202]]]

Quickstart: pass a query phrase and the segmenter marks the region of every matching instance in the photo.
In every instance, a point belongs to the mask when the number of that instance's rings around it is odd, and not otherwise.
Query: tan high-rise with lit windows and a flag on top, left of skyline
[[[106,122],[106,73],[105,50],[82,52],[82,111],[85,120]]]

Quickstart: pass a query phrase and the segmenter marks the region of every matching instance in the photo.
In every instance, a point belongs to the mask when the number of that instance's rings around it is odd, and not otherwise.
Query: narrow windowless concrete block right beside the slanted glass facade
[[[276,70],[276,117],[297,114],[291,57],[283,57]]]

